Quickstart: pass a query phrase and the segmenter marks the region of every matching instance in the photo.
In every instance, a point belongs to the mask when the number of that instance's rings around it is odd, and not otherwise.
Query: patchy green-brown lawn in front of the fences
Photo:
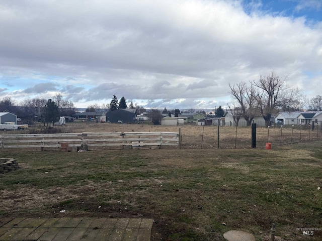
[[[258,149],[3,150],[0,224],[11,217],[148,217],[151,240],[322,240],[322,142]],[[64,212],[61,212],[64,210]]]

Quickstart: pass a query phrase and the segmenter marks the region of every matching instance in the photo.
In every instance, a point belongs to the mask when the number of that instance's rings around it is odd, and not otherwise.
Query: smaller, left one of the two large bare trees
[[[248,87],[246,82],[239,82],[233,86],[229,84],[229,87],[232,97],[236,99],[240,105],[238,111],[236,112],[236,116],[243,116],[247,122],[247,126],[250,126],[253,119],[256,116],[259,116],[256,87],[253,83],[251,83],[251,86]],[[230,108],[231,107],[229,107],[229,109]],[[233,109],[236,110],[236,106],[234,106]]]

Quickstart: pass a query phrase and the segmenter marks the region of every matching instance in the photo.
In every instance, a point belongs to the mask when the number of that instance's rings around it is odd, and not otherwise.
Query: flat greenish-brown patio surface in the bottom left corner
[[[0,240],[149,241],[153,219],[148,218],[14,218],[0,227]]]

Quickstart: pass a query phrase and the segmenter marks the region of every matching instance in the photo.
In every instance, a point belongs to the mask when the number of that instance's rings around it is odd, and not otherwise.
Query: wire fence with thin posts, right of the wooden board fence
[[[256,128],[256,148],[321,140],[321,127],[275,126]],[[244,149],[252,148],[251,127],[201,126],[191,132],[181,128],[181,148]]]

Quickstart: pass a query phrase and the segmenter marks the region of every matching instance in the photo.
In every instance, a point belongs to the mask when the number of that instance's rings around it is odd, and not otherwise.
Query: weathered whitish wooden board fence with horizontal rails
[[[74,151],[116,148],[141,148],[178,146],[179,133],[139,132],[139,133],[70,133],[70,134],[25,134],[0,135],[1,150],[7,148],[68,148]],[[62,145],[63,144],[63,145]],[[67,149],[68,151],[68,149]]]

